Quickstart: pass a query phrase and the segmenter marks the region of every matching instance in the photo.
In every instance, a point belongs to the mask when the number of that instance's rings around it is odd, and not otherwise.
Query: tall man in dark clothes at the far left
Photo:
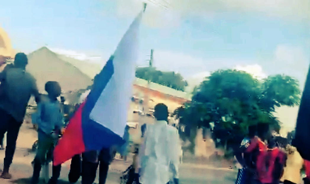
[[[9,167],[16,147],[16,139],[23,123],[31,95],[36,101],[39,93],[33,76],[25,71],[28,64],[24,53],[15,55],[14,65],[7,65],[0,73],[0,140],[7,132],[4,167],[0,177],[10,179]]]

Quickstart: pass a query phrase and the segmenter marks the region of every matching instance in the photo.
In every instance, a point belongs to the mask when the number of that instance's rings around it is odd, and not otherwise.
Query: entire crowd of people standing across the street
[[[66,126],[64,119],[64,98],[60,98],[61,87],[56,81],[45,84],[47,95],[40,94],[36,80],[25,68],[28,64],[24,53],[15,55],[14,64],[9,64],[0,73],[0,140],[7,133],[7,146],[1,178],[10,179],[9,172],[16,147],[16,140],[23,123],[31,96],[38,104],[32,115],[32,123],[38,132],[38,149],[33,160],[31,184],[39,182],[42,165],[52,161],[53,148]],[[134,160],[129,168],[126,184],[166,184],[179,183],[179,158],[181,144],[178,130],[168,125],[168,107],[157,104],[154,108],[153,124],[141,127],[143,140],[134,150]],[[124,139],[128,140],[126,127]],[[122,148],[127,150],[128,141]],[[73,156],[69,172],[69,182],[75,183],[82,176],[82,184],[95,181],[99,167],[99,184],[107,179],[108,169],[117,146],[91,150]],[[169,149],[167,149],[169,148]],[[128,151],[127,151],[128,152]],[[126,158],[126,151],[122,156]],[[234,150],[239,169],[236,184],[299,184],[302,183],[301,170],[304,168],[305,184],[310,183],[310,162],[303,160],[297,149],[287,144],[279,144],[271,134],[268,124],[260,123],[248,127],[248,137]],[[55,165],[48,184],[56,184],[60,177],[61,165]]]

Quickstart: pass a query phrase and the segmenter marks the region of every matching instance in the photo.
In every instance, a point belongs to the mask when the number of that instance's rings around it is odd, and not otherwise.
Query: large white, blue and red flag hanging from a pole
[[[54,150],[54,165],[85,151],[121,145],[138,56],[138,32],[144,11],[130,25],[114,54],[94,78],[85,101],[70,119]]]

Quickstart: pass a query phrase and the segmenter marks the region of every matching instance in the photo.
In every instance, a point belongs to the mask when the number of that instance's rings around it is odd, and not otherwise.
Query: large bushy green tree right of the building
[[[192,102],[175,114],[181,124],[192,128],[213,125],[215,142],[229,149],[240,144],[249,125],[268,123],[279,131],[275,107],[299,101],[298,81],[292,77],[276,75],[259,81],[243,71],[218,70],[195,88]]]

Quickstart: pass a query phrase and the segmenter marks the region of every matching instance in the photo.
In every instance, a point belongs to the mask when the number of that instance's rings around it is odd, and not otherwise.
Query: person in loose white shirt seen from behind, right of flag
[[[178,130],[167,123],[168,107],[155,106],[156,122],[146,126],[144,142],[139,150],[142,184],[179,183],[180,147]],[[172,175],[172,177],[171,177]]]

